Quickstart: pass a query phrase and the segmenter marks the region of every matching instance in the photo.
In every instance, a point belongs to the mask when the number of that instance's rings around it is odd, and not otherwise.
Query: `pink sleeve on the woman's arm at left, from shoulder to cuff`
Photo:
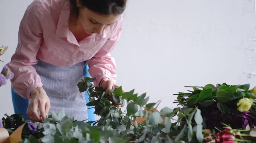
[[[23,98],[29,98],[32,90],[43,85],[35,68],[32,67],[38,63],[36,57],[43,36],[39,17],[41,5],[38,0],[34,0],[20,22],[17,48],[11,62],[7,64],[14,73],[14,78],[11,79],[12,88]]]

